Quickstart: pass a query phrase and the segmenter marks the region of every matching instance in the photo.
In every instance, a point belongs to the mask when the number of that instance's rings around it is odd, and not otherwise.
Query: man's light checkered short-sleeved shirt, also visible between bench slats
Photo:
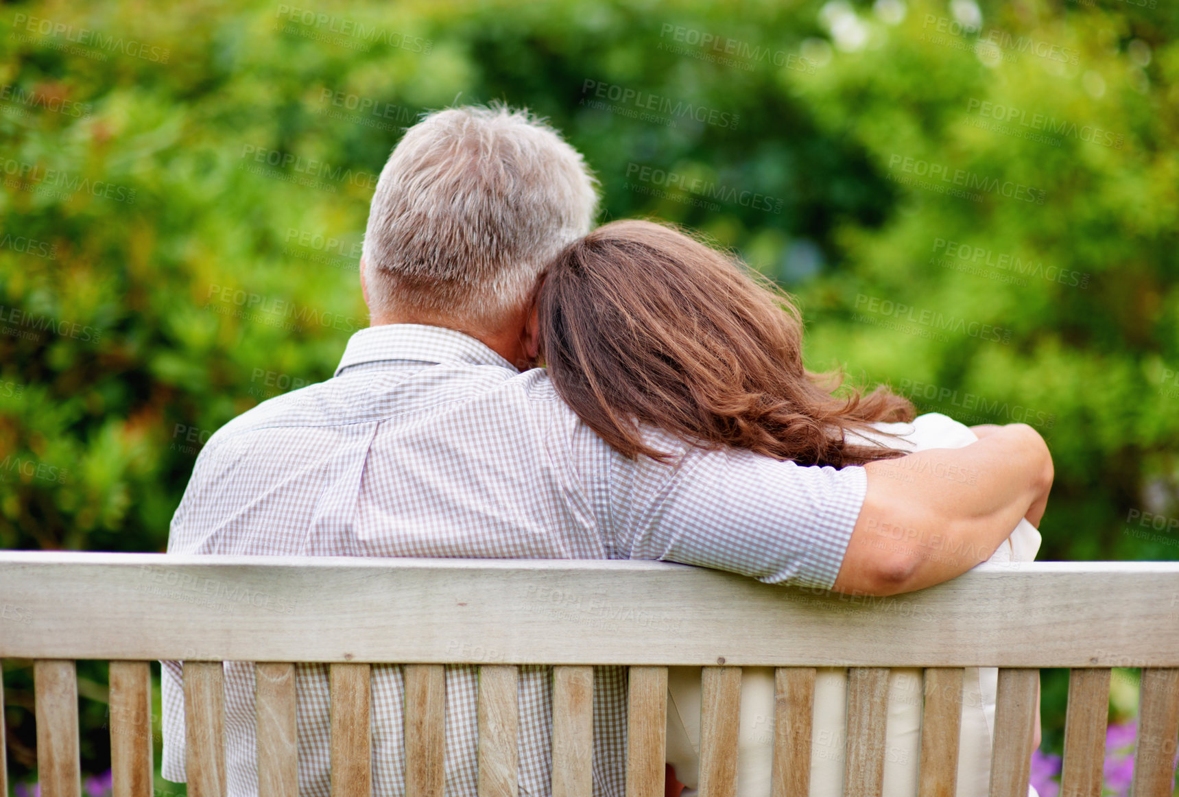
[[[169,553],[659,559],[830,588],[863,503],[859,467],[703,450],[654,430],[674,463],[627,460],[558,396],[473,337],[356,332],[327,382],[218,430],[172,519]],[[641,607],[637,607],[641,608]],[[750,628],[750,633],[757,633]],[[182,665],[163,668],[163,775],[184,780]],[[253,665],[226,661],[231,797],[258,793]],[[298,782],[329,796],[327,665],[297,665]],[[474,797],[477,668],[446,668],[448,797]],[[373,667],[373,792],[404,793],[402,671]],[[547,797],[552,668],[520,668],[520,793]],[[594,671],[594,795],[623,797],[626,670]],[[265,797],[265,796],[263,796]]]

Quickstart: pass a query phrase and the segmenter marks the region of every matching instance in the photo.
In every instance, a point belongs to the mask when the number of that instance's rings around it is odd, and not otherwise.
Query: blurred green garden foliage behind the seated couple
[[[0,546],[163,549],[208,435],[367,324],[401,129],[502,99],[604,218],[782,281],[814,369],[1036,426],[1041,558],[1175,559],[1138,522],[1179,516],[1179,7],[1141,2],[8,6]]]

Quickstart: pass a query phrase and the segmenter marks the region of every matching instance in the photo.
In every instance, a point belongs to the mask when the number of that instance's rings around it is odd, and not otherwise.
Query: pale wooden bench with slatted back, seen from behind
[[[922,797],[954,793],[962,667],[1001,667],[996,797],[1027,795],[1039,667],[1072,668],[1066,797],[1100,795],[1109,667],[1142,667],[1133,793],[1172,793],[1179,562],[983,565],[917,593],[854,598],[647,561],[0,552],[0,656],[35,660],[45,797],[79,795],[77,659],[111,660],[116,797],[151,795],[154,659],[187,659],[195,797],[225,790],[222,660],[257,663],[265,797],[296,795],[295,661],[330,663],[340,797],[370,791],[371,663],[407,665],[414,797],[443,793],[446,663],[482,665],[479,723],[498,729],[516,722],[515,665],[555,665],[554,797],[591,793],[590,665],[631,667],[628,797],[663,795],[668,665],[704,667],[702,797],[735,793],[743,666],[778,667],[768,706],[775,797],[806,795],[816,666],[850,668],[850,797],[880,793],[889,667],[926,668]],[[192,660],[193,651],[204,660]],[[514,732],[481,733],[480,795],[514,796],[515,760]],[[0,793],[6,789],[0,777]]]

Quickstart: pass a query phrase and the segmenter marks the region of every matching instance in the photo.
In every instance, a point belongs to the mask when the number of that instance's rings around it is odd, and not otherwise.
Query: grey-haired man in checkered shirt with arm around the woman
[[[849,467],[690,450],[627,460],[533,368],[538,276],[597,212],[552,129],[505,107],[426,117],[373,197],[361,262],[371,327],[335,376],[271,398],[204,447],[170,553],[661,559],[773,584],[894,594],[987,559],[1052,480],[1029,427]],[[937,479],[961,467],[974,483]],[[911,545],[874,545],[895,527]],[[944,549],[930,555],[930,546]],[[949,545],[947,545],[949,542]],[[946,551],[964,551],[955,559]],[[164,777],[184,779],[182,665],[164,663]],[[253,668],[225,663],[229,792],[257,793]],[[299,793],[329,793],[328,671],[299,665]],[[520,790],[549,792],[551,670],[521,667]],[[446,776],[475,795],[476,668],[446,670]],[[402,793],[402,671],[373,668],[373,784]],[[594,680],[595,795],[624,792],[626,674]]]

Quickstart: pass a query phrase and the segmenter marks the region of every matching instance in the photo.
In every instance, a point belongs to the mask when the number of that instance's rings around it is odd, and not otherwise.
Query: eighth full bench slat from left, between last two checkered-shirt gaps
[[[593,667],[553,667],[553,797],[593,793]]]

